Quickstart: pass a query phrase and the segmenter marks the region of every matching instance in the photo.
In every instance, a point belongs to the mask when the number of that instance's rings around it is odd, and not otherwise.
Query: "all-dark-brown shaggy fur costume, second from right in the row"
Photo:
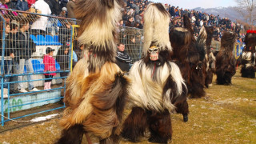
[[[218,85],[230,85],[231,78],[234,76],[235,57],[233,54],[234,42],[237,34],[232,31],[224,32],[221,40],[221,49],[216,56],[216,74]]]

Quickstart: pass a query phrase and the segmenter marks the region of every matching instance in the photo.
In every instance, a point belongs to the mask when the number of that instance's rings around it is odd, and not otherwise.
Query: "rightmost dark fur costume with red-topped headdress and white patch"
[[[253,33],[254,32],[254,33]],[[248,30],[246,33],[245,43],[246,47],[242,51],[241,58],[241,74],[244,78],[255,78],[256,72],[256,58],[255,58],[255,49],[256,49],[256,31]]]

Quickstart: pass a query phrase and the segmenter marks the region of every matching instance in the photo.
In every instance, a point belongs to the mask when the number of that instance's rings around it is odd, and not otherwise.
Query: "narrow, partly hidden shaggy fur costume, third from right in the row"
[[[215,63],[216,63],[216,58],[210,49],[211,41],[214,35],[214,27],[213,26],[205,26],[206,28],[206,81],[205,81],[205,86],[208,88],[212,82],[213,82],[213,77],[214,77],[214,72],[215,72]]]

